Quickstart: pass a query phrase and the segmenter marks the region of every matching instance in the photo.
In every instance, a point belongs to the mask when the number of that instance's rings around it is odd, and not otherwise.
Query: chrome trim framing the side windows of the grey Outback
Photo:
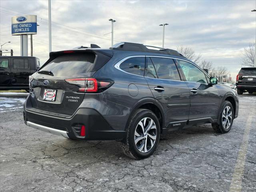
[[[127,74],[136,75],[136,74],[128,73],[128,72],[126,72],[126,71],[124,71],[124,70],[122,70],[122,69],[120,68],[120,64],[121,64],[122,62],[124,62],[125,60],[127,60],[127,59],[129,59],[129,58],[133,58],[133,57],[158,57],[158,58],[167,58],[167,59],[182,60],[182,61],[191,63],[192,65],[194,65],[194,66],[196,66],[198,69],[200,69],[196,64],[194,64],[194,63],[192,63],[192,62],[190,62],[190,61],[188,61],[188,60],[184,60],[184,59],[180,59],[180,58],[175,58],[175,57],[156,56],[156,55],[131,55],[131,56],[127,56],[127,57],[121,59],[120,61],[118,61],[118,62],[114,65],[114,67],[115,67],[116,69],[122,71],[122,72],[127,73]],[[146,66],[146,63],[145,63],[145,66]],[[200,70],[201,70],[204,74],[206,74],[206,76],[207,76],[208,78],[210,78],[210,76],[209,76],[206,72],[204,72],[204,70],[202,70],[202,69],[200,69]],[[141,75],[136,75],[136,76],[145,77],[145,78],[151,78],[151,79],[160,79],[160,78],[152,78],[152,77],[146,77],[146,76],[141,76]],[[179,80],[169,80],[169,79],[160,79],[160,80],[179,81]],[[182,80],[180,80],[180,81],[181,81],[181,82],[198,83],[198,82],[191,82],[191,81],[182,81]],[[206,85],[208,85],[208,83],[199,83],[199,84],[206,84]]]

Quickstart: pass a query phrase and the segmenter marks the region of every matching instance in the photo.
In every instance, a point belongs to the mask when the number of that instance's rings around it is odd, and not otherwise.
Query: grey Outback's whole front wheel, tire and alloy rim
[[[216,133],[227,133],[230,131],[234,120],[234,109],[229,101],[224,101],[218,114],[218,122],[212,123],[212,128]]]

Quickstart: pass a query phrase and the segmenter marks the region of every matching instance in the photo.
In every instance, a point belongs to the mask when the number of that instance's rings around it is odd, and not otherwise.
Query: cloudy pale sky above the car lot
[[[255,42],[255,0],[241,1],[74,1],[52,0],[52,50],[65,50],[90,43],[108,48],[111,45],[111,22],[114,43],[138,42],[165,47],[188,46],[214,66],[226,66],[232,78],[241,68],[242,50]],[[20,55],[20,38],[11,36],[11,17],[38,16],[38,34],[33,36],[34,56],[48,59],[48,1],[0,0],[0,42],[11,41],[3,49]],[[107,35],[104,35],[107,34]],[[29,41],[30,43],[30,41]],[[30,47],[30,44],[29,44]],[[30,48],[29,48],[30,54]]]

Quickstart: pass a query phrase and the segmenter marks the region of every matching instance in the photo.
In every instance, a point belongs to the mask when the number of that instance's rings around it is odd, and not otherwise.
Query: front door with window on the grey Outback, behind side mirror
[[[191,124],[216,119],[220,95],[216,85],[208,84],[209,77],[196,65],[176,59],[190,89],[189,121]]]

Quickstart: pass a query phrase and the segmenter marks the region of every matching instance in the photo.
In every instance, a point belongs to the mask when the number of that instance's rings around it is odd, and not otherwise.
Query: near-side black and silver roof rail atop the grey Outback
[[[149,49],[148,47],[158,48],[159,50]],[[143,44],[139,44],[139,43],[130,43],[130,42],[120,42],[120,43],[114,44],[112,47],[110,47],[110,49],[126,50],[126,51],[154,52],[154,53],[161,53],[161,54],[168,54],[168,55],[184,57],[182,54],[180,54],[176,50],[165,49],[162,47],[156,47],[156,46],[150,46],[150,45],[143,45]]]

